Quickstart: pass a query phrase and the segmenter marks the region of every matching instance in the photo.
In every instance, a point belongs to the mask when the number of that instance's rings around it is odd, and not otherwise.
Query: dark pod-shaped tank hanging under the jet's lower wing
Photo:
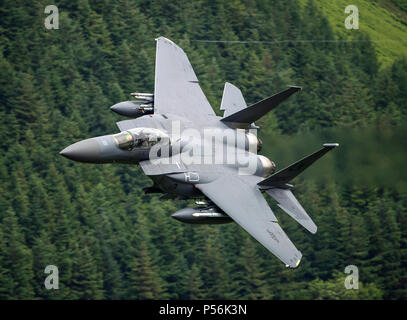
[[[233,220],[215,207],[196,207],[181,209],[171,215],[174,219],[192,224],[221,224]]]

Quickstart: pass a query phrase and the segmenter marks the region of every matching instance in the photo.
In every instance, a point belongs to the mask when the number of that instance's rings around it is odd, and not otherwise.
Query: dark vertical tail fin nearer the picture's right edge
[[[339,146],[337,143],[326,143],[321,150],[314,152],[313,154],[293,163],[285,169],[282,169],[270,177],[259,182],[258,185],[262,189],[267,189],[268,187],[284,187],[290,180],[294,179],[301,172],[307,169],[316,160],[321,158],[328,151]]]

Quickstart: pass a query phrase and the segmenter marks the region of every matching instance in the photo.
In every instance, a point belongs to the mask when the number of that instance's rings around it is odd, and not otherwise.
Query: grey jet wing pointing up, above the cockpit
[[[215,116],[185,52],[164,37],[157,39],[154,111],[190,120]]]

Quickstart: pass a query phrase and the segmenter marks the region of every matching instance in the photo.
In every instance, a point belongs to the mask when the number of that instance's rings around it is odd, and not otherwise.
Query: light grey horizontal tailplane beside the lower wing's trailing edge
[[[312,221],[310,216],[305,212],[291,190],[272,188],[266,190],[266,192],[278,202],[278,206],[282,210],[305,229],[311,233],[317,232],[317,226],[314,221]]]

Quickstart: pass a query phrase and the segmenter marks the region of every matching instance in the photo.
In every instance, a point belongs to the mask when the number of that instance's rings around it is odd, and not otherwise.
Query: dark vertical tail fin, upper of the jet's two
[[[290,87],[287,90],[275,94],[274,96],[237,111],[230,116],[226,116],[225,118],[221,119],[221,121],[249,125],[250,123],[260,119],[269,111],[273,110],[293,93],[300,90],[301,87]]]

